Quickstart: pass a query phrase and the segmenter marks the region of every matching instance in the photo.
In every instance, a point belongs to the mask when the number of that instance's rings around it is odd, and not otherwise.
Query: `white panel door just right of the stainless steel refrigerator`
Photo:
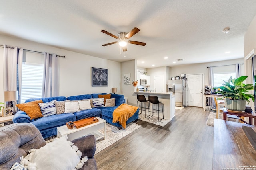
[[[203,74],[187,75],[187,104],[203,107]]]

